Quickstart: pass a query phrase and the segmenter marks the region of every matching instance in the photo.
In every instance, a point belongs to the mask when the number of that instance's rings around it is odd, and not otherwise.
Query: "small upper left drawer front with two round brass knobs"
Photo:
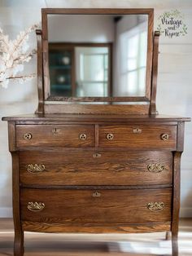
[[[94,147],[94,126],[16,126],[17,147]]]

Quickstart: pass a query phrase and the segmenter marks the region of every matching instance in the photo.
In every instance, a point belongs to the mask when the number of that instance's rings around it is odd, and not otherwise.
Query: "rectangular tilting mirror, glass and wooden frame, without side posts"
[[[46,101],[127,104],[151,95],[150,10],[46,9]]]

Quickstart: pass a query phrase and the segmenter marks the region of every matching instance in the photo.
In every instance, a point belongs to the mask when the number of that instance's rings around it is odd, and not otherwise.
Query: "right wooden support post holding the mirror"
[[[150,114],[156,115],[156,90],[158,75],[158,55],[159,55],[159,31],[155,31],[153,38],[153,61],[152,61],[152,80],[151,80],[151,102]]]

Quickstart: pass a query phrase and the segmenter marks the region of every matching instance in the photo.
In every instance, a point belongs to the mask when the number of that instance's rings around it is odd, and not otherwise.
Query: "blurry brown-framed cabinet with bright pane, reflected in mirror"
[[[50,95],[111,95],[111,44],[49,43]]]

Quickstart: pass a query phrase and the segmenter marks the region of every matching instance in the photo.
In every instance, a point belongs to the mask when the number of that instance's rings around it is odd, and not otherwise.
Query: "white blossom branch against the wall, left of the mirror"
[[[35,74],[16,76],[24,70],[24,63],[28,62],[36,54],[36,50],[28,51],[29,34],[37,29],[33,25],[25,31],[21,31],[15,40],[9,37],[0,29],[0,85],[7,88],[9,81],[25,82],[35,77]]]

